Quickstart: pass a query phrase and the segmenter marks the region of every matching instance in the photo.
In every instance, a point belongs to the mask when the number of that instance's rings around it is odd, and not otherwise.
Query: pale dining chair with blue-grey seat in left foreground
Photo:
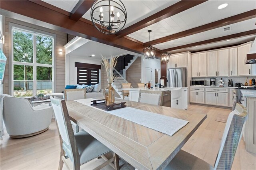
[[[104,144],[96,140],[86,131],[80,131],[74,134],[68,115],[68,109],[65,100],[60,100],[50,97],[54,110],[55,121],[60,137],[60,162],[59,170],[62,169],[63,163],[69,169],[80,170],[80,166],[101,157],[110,152],[110,149]],[[119,162],[116,159],[118,156],[113,154],[113,157],[97,166],[95,169],[101,169],[114,161],[114,167],[118,166]],[[67,159],[72,161],[72,167],[68,164]]]

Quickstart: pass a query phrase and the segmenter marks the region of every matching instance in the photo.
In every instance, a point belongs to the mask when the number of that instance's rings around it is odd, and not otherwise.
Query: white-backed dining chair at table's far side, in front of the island
[[[140,90],[138,102],[162,106],[163,92]]]

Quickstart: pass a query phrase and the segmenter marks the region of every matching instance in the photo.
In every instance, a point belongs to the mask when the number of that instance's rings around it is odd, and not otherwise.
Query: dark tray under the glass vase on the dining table
[[[114,105],[110,105],[110,106],[105,105],[104,99],[93,100],[91,102],[92,102],[91,106],[96,107],[101,110],[104,110],[104,111],[112,111],[112,110],[121,109],[121,108],[126,107],[126,105],[125,105],[126,102],[115,103]]]

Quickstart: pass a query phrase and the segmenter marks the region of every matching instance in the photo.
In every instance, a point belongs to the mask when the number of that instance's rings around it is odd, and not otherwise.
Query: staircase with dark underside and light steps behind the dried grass
[[[126,70],[132,65],[132,63],[137,59],[137,56],[133,55],[123,55],[118,57],[118,61],[116,63],[116,67],[114,68],[114,75],[118,77],[113,83],[112,86],[114,87],[116,93],[123,97],[122,95],[122,83],[128,83],[125,79]]]

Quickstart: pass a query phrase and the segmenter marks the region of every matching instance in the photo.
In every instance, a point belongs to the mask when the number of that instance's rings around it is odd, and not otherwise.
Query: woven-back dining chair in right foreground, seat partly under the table
[[[228,116],[226,127],[220,143],[220,149],[212,167],[204,160],[180,150],[171,162],[166,166],[166,170],[230,170],[234,160],[237,146],[242,137],[242,128],[246,121],[247,110],[236,103],[235,109]]]

